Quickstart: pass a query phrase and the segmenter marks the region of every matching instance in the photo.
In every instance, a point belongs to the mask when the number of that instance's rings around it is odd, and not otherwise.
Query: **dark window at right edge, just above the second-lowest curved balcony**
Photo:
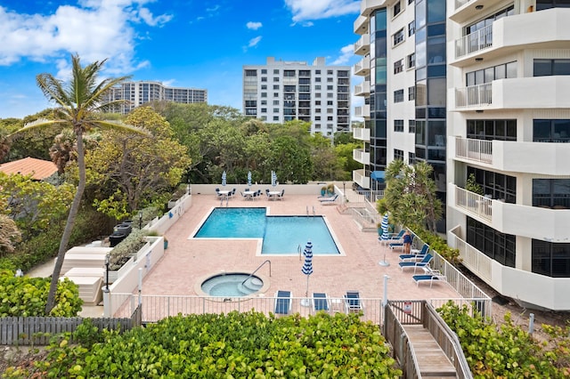
[[[533,179],[533,206],[570,209],[570,179]]]

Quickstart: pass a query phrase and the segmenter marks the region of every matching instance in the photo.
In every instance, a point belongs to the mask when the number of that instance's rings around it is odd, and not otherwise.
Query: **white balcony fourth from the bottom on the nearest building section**
[[[500,79],[450,91],[452,111],[570,108],[570,76]]]

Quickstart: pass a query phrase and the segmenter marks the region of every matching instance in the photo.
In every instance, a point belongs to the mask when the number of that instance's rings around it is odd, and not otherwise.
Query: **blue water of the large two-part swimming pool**
[[[261,254],[339,254],[322,216],[268,216],[265,208],[215,208],[194,238],[263,238]]]

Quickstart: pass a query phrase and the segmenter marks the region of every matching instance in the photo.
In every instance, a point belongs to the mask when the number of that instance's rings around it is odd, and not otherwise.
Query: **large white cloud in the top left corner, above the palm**
[[[60,5],[52,14],[20,14],[0,6],[0,65],[21,59],[56,60],[58,77],[69,72],[69,53],[84,62],[109,58],[105,69],[125,75],[149,64],[134,58],[133,24],[159,27],[171,15],[154,16],[146,0],[84,0]]]

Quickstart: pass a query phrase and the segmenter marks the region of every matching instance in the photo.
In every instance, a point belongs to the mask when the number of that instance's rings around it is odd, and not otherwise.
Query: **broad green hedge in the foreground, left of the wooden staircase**
[[[379,327],[357,315],[323,312],[281,319],[233,311],[163,319],[100,338],[94,328],[78,345],[55,341],[37,362],[47,377],[338,377],[397,378],[402,370]],[[83,339],[82,342],[81,339]],[[32,375],[11,368],[6,377]]]

